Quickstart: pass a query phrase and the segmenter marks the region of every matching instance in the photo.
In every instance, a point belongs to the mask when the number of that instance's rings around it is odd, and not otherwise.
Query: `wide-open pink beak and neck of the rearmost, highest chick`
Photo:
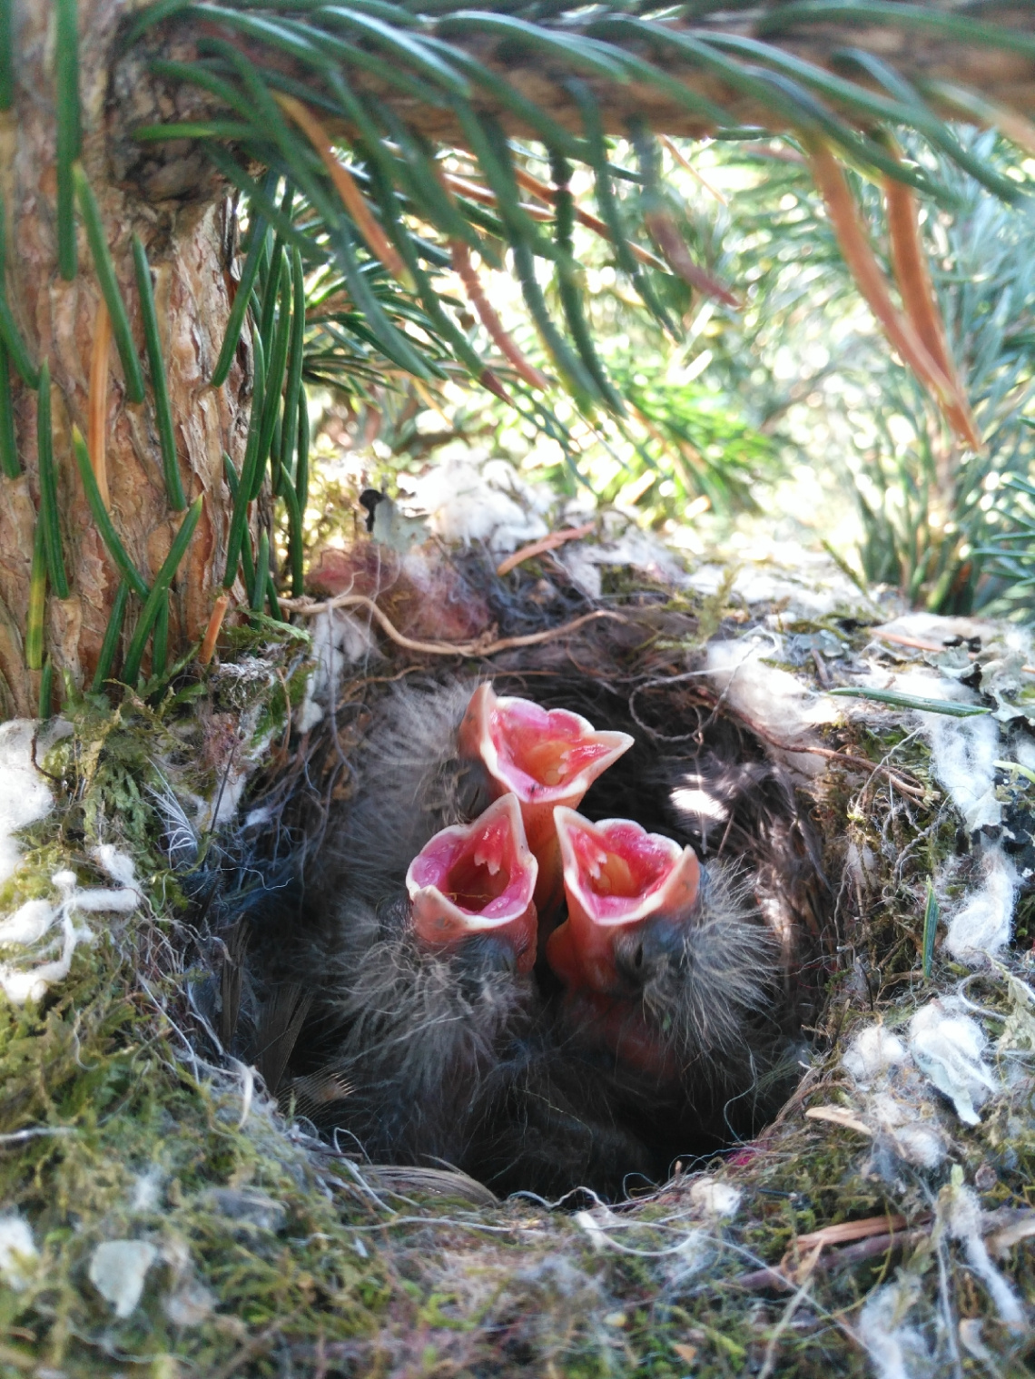
[[[567,709],[498,696],[491,684],[482,684],[471,696],[458,741],[461,756],[484,764],[495,794],[518,796],[529,847],[540,863],[535,905],[548,918],[560,906],[563,888],[553,811],[558,805],[574,809],[633,739],[628,732],[598,732]]]

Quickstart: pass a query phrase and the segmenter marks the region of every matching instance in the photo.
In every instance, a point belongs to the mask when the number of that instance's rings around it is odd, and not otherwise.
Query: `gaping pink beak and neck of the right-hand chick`
[[[567,920],[549,936],[546,958],[570,990],[618,994],[615,938],[649,920],[680,923],[697,898],[701,865],[693,848],[629,819],[591,823],[567,808],[553,819]]]

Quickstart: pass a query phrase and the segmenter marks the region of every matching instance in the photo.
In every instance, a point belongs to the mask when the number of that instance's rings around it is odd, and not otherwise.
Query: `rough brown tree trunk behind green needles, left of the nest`
[[[58,476],[61,543],[68,598],[48,597],[46,647],[55,672],[77,684],[94,674],[119,572],[87,506],[75,463],[70,429],[87,434],[87,404],[98,331],[98,279],[81,225],[79,272],[69,283],[57,269],[54,6],[23,4],[17,15],[18,61],[14,108],[0,116],[0,168],[7,208],[7,292],[15,321],[36,363],[48,360]],[[207,200],[148,200],[115,178],[108,137],[108,101],[116,28],[126,0],[80,0],[80,92],[83,165],[97,194],[126,302],[134,342],[144,359],[144,332],[134,280],[131,236],[141,237],[153,270],[159,331],[166,363],[179,473],[188,503],[204,509],[170,600],[170,658],[196,640],[210,616],[222,576],[229,490],[226,451],[240,465],[247,432],[247,368],[235,363],[221,389],[208,386],[229,310],[225,272],[225,211],[208,183]],[[126,399],[119,354],[112,346],[105,408],[109,512],[123,543],[150,583],[182,521],[170,509],[150,387],[142,404]],[[146,376],[146,367],[145,367]],[[36,443],[37,396],[11,371],[18,456],[23,473],[0,479],[0,710],[34,713],[37,685],[25,669],[33,534],[40,506]],[[132,632],[134,600],[123,627]]]

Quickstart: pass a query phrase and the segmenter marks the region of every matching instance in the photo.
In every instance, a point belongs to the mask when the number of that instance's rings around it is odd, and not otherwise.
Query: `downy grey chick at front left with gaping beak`
[[[306,1044],[349,1091],[310,1118],[374,1160],[475,1167],[482,1084],[534,1016],[537,873],[504,796],[433,834],[377,903],[335,878]]]

